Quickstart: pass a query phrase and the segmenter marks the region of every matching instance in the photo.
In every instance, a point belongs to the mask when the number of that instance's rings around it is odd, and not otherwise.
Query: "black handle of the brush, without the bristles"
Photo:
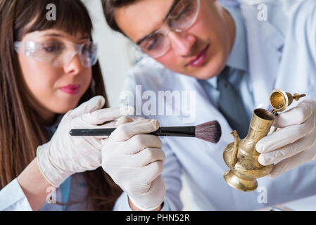
[[[115,128],[106,129],[72,129],[70,131],[71,136],[110,136]],[[158,130],[153,131],[151,135],[156,136],[195,136],[196,127],[160,127]]]

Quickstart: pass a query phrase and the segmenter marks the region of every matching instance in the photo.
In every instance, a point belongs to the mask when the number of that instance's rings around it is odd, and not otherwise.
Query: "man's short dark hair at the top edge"
[[[136,1],[139,1],[139,0],[101,0],[101,1],[102,1],[103,13],[104,13],[104,16],[106,17],[106,22],[108,23],[109,27],[117,32],[124,34],[124,32],[120,30],[120,27],[118,27],[118,24],[115,21],[115,18],[114,18],[115,9],[122,8],[130,4],[134,4]]]

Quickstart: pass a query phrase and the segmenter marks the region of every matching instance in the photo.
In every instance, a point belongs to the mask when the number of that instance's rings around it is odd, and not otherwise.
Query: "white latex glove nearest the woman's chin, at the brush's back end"
[[[120,108],[101,109],[104,104],[103,96],[96,96],[70,110],[51,140],[37,148],[39,169],[52,186],[59,187],[72,174],[101,167],[102,137],[70,136],[69,131],[114,127],[113,122],[96,126],[122,117]]]

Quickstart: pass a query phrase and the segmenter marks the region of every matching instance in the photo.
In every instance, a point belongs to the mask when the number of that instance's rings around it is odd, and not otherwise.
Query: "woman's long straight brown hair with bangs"
[[[49,4],[56,6],[57,20],[46,20]],[[44,129],[44,120],[30,107],[30,101],[35,100],[23,80],[14,41],[20,41],[27,33],[47,29],[91,35],[92,23],[80,0],[0,0],[0,21],[1,189],[36,157],[37,147],[51,138]],[[91,85],[79,105],[97,95],[106,98],[99,63],[92,67]],[[107,107],[108,104],[104,106]],[[83,174],[89,186],[87,199],[92,209],[113,210],[120,188],[101,167]]]

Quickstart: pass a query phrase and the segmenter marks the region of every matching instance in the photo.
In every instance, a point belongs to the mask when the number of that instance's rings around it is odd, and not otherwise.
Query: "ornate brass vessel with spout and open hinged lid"
[[[260,165],[258,162],[260,154],[255,150],[255,144],[270,132],[277,112],[284,111],[291,105],[293,99],[298,101],[303,96],[305,94],[292,96],[288,92],[275,89],[270,94],[272,112],[263,108],[255,109],[245,139],[239,141],[237,131],[232,131],[234,142],[229,143],[223,153],[225,163],[230,168],[224,174],[227,184],[239,191],[255,191],[258,187],[256,179],[267,176],[274,167],[274,165]]]

